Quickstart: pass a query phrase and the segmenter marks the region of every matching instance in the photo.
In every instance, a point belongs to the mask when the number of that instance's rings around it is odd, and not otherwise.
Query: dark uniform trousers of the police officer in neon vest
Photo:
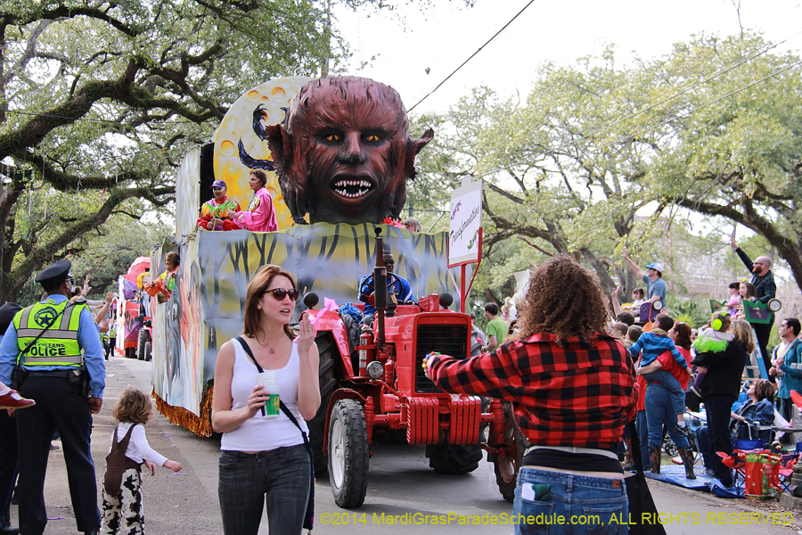
[[[34,407],[17,411],[20,530],[25,535],[41,535],[45,531],[45,471],[54,430],[61,435],[78,531],[98,530],[97,481],[89,449],[91,420],[80,386],[54,374],[29,376],[19,390],[24,397],[37,401]]]

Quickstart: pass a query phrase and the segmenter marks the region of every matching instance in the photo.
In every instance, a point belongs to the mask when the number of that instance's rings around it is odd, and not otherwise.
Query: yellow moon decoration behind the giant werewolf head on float
[[[253,131],[253,111],[259,104],[267,115],[265,127],[277,125],[284,120],[282,108],[289,106],[292,96],[314,78],[287,77],[269,80],[261,86],[246,91],[225,114],[215,131],[215,179],[225,181],[227,195],[240,203],[245,210],[253,193],[248,185],[250,169],[240,161],[237,149],[240,140],[251,157],[256,160],[273,160],[267,142],[258,138]],[[267,173],[267,191],[273,197],[275,219],[279,230],[292,226],[290,210],[284,204],[282,190],[273,171]],[[203,199],[203,201],[207,201]]]

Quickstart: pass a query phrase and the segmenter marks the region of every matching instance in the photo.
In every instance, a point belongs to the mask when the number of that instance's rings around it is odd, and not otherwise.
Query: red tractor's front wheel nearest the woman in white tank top
[[[362,406],[355,399],[340,399],[329,422],[329,481],[334,503],[358,507],[367,492],[370,445]]]

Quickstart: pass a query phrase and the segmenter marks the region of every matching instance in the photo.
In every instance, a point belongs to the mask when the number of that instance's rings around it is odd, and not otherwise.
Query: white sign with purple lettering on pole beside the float
[[[463,177],[451,192],[451,226],[448,239],[448,267],[479,262],[479,229],[482,226],[482,179]]]

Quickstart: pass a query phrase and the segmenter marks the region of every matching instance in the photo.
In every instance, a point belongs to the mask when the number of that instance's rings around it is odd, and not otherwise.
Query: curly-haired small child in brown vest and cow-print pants
[[[112,415],[119,424],[111,436],[111,449],[106,457],[101,532],[107,535],[142,535],[144,515],[140,469],[143,462],[151,469],[152,475],[156,474],[156,465],[178,472],[181,463],[171,461],[151,448],[145,436],[144,424],[153,416],[153,406],[143,391],[127,387],[117,400]],[[120,438],[119,434],[123,434],[123,437]]]

